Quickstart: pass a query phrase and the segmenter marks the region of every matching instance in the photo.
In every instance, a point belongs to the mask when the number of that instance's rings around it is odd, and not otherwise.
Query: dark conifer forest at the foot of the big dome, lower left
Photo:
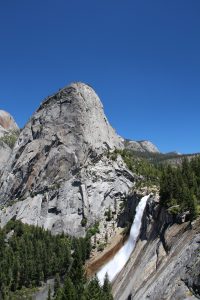
[[[108,278],[103,287],[97,278],[86,280],[84,263],[90,249],[90,235],[53,236],[43,228],[10,221],[0,229],[0,298],[20,299],[15,298],[19,291],[55,277],[56,300],[112,299]]]

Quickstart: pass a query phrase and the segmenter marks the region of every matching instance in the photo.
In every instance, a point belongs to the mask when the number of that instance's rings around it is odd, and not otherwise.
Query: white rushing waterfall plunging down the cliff
[[[137,208],[136,208],[136,214],[133,221],[133,224],[131,226],[131,231],[129,238],[127,242],[124,244],[124,246],[115,254],[115,256],[107,263],[105,264],[102,269],[97,273],[97,277],[99,278],[99,281],[101,284],[104,282],[104,278],[106,273],[108,274],[109,280],[112,281],[115,276],[122,270],[122,268],[127,263],[131,253],[133,252],[135,248],[135,244],[138,238],[138,235],[140,233],[140,228],[142,224],[142,216],[144,209],[146,207],[146,203],[149,196],[144,196]]]

